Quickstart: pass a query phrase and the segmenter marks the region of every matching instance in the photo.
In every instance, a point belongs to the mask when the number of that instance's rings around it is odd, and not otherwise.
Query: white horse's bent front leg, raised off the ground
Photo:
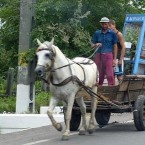
[[[52,115],[54,108],[56,107],[56,105],[58,104],[58,100],[54,97],[51,98],[50,100],[50,105],[49,105],[49,109],[47,111],[48,117],[50,118],[52,125],[58,130],[61,131],[62,130],[62,125],[61,123],[57,123]]]

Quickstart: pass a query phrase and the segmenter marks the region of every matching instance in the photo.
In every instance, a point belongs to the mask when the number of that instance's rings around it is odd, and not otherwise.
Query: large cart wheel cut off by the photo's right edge
[[[134,124],[138,131],[145,130],[145,96],[139,95],[133,111]]]

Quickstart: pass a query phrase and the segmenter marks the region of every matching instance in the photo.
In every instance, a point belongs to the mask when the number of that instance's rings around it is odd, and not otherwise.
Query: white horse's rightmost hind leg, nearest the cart
[[[97,93],[97,87],[93,87],[92,91],[94,93]],[[96,107],[97,107],[97,99],[96,96],[92,96],[91,98],[91,116],[90,116],[90,121],[89,121],[89,127],[88,127],[88,132],[91,134],[95,131],[95,112],[96,112]]]

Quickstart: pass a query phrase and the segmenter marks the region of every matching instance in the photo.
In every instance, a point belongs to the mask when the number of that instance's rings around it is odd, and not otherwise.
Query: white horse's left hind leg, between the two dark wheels
[[[82,115],[82,126],[79,130],[79,135],[85,135],[87,124],[86,124],[86,105],[84,103],[83,97],[77,97],[76,101],[78,105],[80,106],[80,111]]]

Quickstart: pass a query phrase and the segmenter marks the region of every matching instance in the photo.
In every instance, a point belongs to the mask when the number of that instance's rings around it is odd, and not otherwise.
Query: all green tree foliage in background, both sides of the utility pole
[[[68,56],[79,56],[90,49],[91,36],[107,16],[122,31],[125,15],[144,13],[144,0],[37,0],[32,43],[55,38],[55,44]],[[16,67],[19,42],[20,0],[0,0],[0,74]],[[5,54],[5,55],[4,55]]]

